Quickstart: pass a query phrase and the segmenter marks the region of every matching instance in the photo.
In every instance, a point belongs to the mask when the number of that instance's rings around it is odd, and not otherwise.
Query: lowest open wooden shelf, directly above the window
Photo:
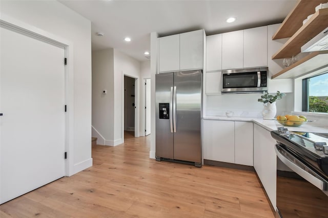
[[[328,67],[328,51],[312,52],[291,66],[272,76],[272,79],[295,78],[311,71],[318,66]]]

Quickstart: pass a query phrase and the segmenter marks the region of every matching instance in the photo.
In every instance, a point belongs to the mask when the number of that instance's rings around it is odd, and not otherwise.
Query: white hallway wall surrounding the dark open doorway
[[[140,62],[136,59],[114,49],[114,143],[120,144],[123,141],[123,78],[124,75],[135,78],[136,80],[136,93],[135,93],[135,104],[136,113],[139,114],[140,108],[140,90],[139,87],[143,83],[140,79]],[[140,84],[141,83],[141,84]],[[136,117],[136,126],[139,126],[139,116]],[[136,136],[139,136],[139,130],[136,130]]]

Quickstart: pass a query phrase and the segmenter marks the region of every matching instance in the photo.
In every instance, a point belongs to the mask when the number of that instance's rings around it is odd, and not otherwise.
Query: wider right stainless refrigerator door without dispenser
[[[174,73],[174,86],[176,86],[173,94],[176,95],[174,96],[176,97],[176,113],[173,112],[176,115],[174,117],[176,119],[175,160],[201,163],[201,84],[201,71]]]

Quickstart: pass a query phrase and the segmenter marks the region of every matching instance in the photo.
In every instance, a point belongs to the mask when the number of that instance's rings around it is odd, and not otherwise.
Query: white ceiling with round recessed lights
[[[124,1],[87,0],[61,3],[91,20],[92,50],[115,48],[145,61],[150,33],[167,36],[205,29],[207,35],[277,24],[296,5],[296,0],[228,1]],[[228,17],[234,23],[226,23]],[[104,36],[97,36],[103,32]],[[130,42],[124,41],[131,37]]]

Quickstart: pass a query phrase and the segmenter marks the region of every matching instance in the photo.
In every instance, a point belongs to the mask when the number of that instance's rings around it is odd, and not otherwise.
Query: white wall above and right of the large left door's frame
[[[91,22],[57,1],[1,1],[1,14],[71,41],[74,45],[74,170],[91,159]],[[72,49],[72,48],[71,48]]]

